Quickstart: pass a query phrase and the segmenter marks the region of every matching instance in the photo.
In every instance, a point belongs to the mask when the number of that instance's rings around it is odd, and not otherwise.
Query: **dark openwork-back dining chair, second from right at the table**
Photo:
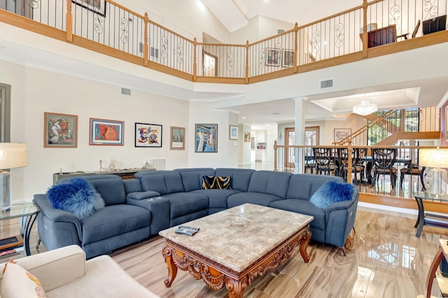
[[[391,177],[391,187],[395,187],[397,181],[397,168],[393,165],[397,160],[396,148],[372,148],[373,179],[372,186],[377,183],[379,175]]]

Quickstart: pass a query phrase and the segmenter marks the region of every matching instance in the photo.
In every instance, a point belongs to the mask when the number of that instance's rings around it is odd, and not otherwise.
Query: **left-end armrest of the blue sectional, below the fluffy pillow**
[[[83,223],[76,215],[68,211],[53,208],[50,199],[48,199],[46,194],[34,194],[33,202],[40,210],[39,213],[41,214],[39,214],[40,216],[38,215],[38,217],[45,215],[51,222],[68,222],[73,225],[72,232],[78,235],[78,239],[83,239]],[[66,229],[66,227],[64,227],[64,229]]]

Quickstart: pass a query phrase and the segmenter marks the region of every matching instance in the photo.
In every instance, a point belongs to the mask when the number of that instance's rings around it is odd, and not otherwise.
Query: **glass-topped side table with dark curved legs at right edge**
[[[425,213],[425,207],[423,206],[423,200],[448,202],[448,194],[446,194],[444,197],[437,197],[435,194],[430,194],[429,192],[413,192],[412,194],[414,194],[417,206],[419,207],[419,215],[414,226],[417,228],[415,236],[419,237],[421,235],[423,225],[429,225],[432,227],[444,227],[448,229],[448,216]]]

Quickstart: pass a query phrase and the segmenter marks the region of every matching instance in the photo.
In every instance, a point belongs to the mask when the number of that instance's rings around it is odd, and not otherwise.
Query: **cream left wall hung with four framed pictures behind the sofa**
[[[0,82],[11,85],[11,141],[27,143],[28,166],[13,169],[13,200],[31,200],[52,185],[52,173],[95,171],[99,159],[118,169],[141,167],[146,159],[167,159],[167,169],[188,166],[186,150],[169,150],[170,126],[188,127],[188,101],[64,76],[0,60]],[[43,113],[78,115],[78,148],[43,148]],[[89,118],[125,122],[124,146],[89,146]],[[134,123],[162,125],[162,148],[135,148]]]

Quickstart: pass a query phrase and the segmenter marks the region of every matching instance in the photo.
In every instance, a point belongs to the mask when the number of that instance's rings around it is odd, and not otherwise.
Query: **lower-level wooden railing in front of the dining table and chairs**
[[[396,151],[386,174],[376,170],[372,152],[377,148]],[[419,150],[426,148],[435,147],[279,146],[275,141],[274,171],[341,176],[365,194],[413,199],[412,192],[429,189],[429,169],[419,165]],[[356,154],[346,154],[355,150]],[[327,157],[321,157],[322,152]]]

